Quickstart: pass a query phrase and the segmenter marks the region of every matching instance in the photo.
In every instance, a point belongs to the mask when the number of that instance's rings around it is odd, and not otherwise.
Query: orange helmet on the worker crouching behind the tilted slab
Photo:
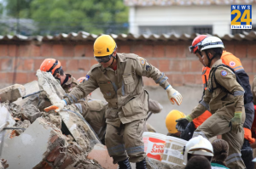
[[[44,59],[43,63],[40,65],[41,71],[51,72],[54,75],[56,70],[61,70],[61,62],[57,59]]]

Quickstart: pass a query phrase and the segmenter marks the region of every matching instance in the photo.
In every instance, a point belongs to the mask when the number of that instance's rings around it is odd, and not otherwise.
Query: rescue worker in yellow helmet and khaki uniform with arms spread
[[[146,59],[136,54],[119,54],[116,42],[108,35],[96,38],[93,51],[99,64],[93,65],[84,83],[55,104],[56,111],[71,104],[73,99],[84,98],[97,87],[108,101],[106,145],[113,163],[119,168],[146,168],[143,146],[143,125],[148,112],[148,93],[143,87],[143,76],[154,79],[166,90],[172,104],[182,102],[182,96],[167,81],[168,77]],[[129,160],[128,160],[129,156]]]

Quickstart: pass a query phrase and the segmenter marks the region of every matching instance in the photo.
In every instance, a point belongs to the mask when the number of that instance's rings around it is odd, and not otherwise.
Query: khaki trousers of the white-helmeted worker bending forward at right
[[[229,144],[230,148],[229,156],[226,159],[227,166],[232,169],[244,169],[246,166],[241,159],[244,131],[241,124],[242,132],[231,132],[229,127],[230,120],[230,117],[218,115],[216,112],[195,130],[193,138],[201,135],[209,139],[217,135],[222,135],[222,139]]]

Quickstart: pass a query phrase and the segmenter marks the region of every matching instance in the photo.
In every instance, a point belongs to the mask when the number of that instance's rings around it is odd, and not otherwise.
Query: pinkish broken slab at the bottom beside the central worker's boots
[[[106,169],[118,168],[117,164],[113,164],[113,158],[108,155],[108,149],[102,144],[96,144],[87,158],[95,159]]]

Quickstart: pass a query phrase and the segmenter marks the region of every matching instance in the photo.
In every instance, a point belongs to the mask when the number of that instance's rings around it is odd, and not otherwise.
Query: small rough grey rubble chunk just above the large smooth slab
[[[29,104],[26,107],[21,108],[20,111],[22,119],[29,120],[31,123],[41,116],[41,112],[33,104]]]

